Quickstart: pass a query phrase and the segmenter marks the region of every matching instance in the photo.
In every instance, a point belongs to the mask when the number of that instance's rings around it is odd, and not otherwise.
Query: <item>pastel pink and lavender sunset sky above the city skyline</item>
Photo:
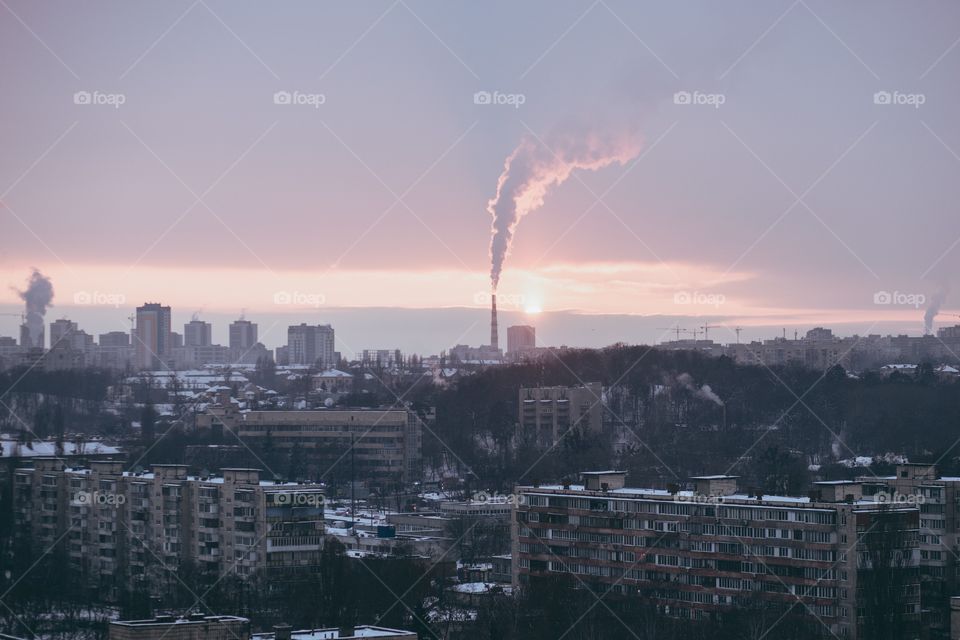
[[[590,136],[636,149],[504,264],[541,343],[956,324],[958,43],[950,1],[2,0],[0,335],[37,268],[94,334],[161,301],[480,344],[506,159]]]

